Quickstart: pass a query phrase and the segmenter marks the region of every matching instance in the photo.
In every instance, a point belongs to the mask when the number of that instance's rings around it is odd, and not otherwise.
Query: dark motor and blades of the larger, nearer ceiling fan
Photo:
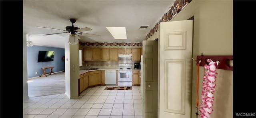
[[[53,33],[53,34],[62,34],[62,33],[71,33],[71,35],[76,35],[76,34],[89,34],[89,33],[84,33],[85,31],[90,31],[92,30],[91,28],[85,27],[85,28],[78,28],[74,26],[74,23],[76,22],[75,19],[70,18],[69,19],[70,22],[72,22],[72,26],[66,26],[66,30],[62,30],[64,32],[60,32],[60,33]],[[37,26],[38,28],[46,28],[46,27],[40,27]],[[56,29],[56,28],[46,28],[46,29],[52,29],[52,30],[61,30],[61,29]],[[44,35],[52,35],[52,34],[44,34]],[[89,34],[89,35],[94,35],[94,36],[100,36],[100,35],[96,35],[96,34]]]

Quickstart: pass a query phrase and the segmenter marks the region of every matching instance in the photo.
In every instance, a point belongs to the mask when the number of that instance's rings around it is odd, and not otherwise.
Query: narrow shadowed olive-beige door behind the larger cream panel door
[[[158,117],[158,41],[142,41],[142,118]]]

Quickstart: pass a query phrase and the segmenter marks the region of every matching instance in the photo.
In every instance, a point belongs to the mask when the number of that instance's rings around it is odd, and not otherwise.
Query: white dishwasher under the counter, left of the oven
[[[116,86],[116,70],[105,70],[106,86]]]

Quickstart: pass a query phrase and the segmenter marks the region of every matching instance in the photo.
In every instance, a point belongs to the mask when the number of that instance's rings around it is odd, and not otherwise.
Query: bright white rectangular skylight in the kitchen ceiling
[[[127,39],[125,27],[106,27],[114,39]]]

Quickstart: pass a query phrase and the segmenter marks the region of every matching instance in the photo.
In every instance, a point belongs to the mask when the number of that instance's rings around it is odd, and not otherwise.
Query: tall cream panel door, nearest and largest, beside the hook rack
[[[193,20],[160,23],[159,118],[190,118]]]

